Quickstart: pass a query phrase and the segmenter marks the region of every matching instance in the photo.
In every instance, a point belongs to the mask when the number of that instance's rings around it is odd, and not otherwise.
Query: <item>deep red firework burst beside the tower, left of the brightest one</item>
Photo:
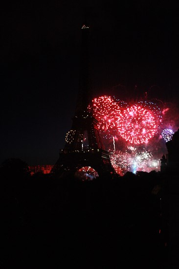
[[[92,111],[94,118],[98,120],[98,128],[105,134],[117,131],[117,121],[122,117],[118,104],[111,96],[100,96],[92,100]],[[111,133],[112,132],[112,133]]]

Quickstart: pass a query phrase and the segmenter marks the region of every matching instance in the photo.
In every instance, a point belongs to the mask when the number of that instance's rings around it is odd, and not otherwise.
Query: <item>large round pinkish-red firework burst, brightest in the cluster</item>
[[[118,120],[118,132],[132,144],[148,143],[157,134],[158,124],[155,113],[134,105],[123,112],[123,119]]]

